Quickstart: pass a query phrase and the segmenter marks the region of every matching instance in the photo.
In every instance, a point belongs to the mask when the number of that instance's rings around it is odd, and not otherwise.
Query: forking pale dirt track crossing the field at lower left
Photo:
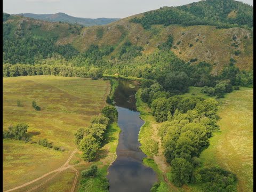
[[[46,183],[47,181],[49,181],[49,180],[51,180],[52,178],[54,178],[54,177],[55,177],[58,173],[60,173],[61,171],[64,171],[64,170],[66,170],[66,169],[69,169],[70,167],[72,167],[72,169],[76,172],[75,181],[74,181],[73,187],[72,187],[72,189],[71,189],[71,192],[73,192],[74,189],[75,189],[75,186],[76,186],[77,178],[78,178],[78,171],[74,168],[75,165],[69,165],[68,163],[69,163],[70,159],[74,156],[74,154],[76,153],[76,151],[77,151],[77,149],[75,149],[75,150],[72,152],[72,154],[69,156],[69,158],[68,158],[68,160],[66,161],[66,163],[63,164],[62,166],[60,166],[58,169],[55,169],[55,170],[50,171],[50,172],[48,172],[48,173],[45,173],[44,175],[42,175],[41,177],[39,177],[39,178],[37,178],[37,179],[34,179],[34,180],[32,180],[32,181],[29,181],[29,182],[26,182],[26,183],[24,183],[23,185],[20,185],[20,186],[18,186],[18,187],[14,187],[14,188],[9,189],[9,190],[6,190],[6,191],[4,191],[4,192],[9,192],[9,191],[13,191],[13,190],[16,190],[16,189],[25,187],[25,186],[27,186],[27,185],[30,185],[31,183],[34,183],[34,182],[36,182],[36,181],[38,181],[38,180],[40,180],[40,179],[45,178],[46,176],[48,176],[48,175],[50,175],[50,174],[52,174],[52,173],[57,172],[57,173],[55,173],[54,175],[52,175],[52,177],[50,177],[49,179],[47,179],[46,181],[40,183],[38,186],[35,186],[35,187],[32,188],[32,189],[29,189],[27,192],[32,191],[32,190],[34,190],[34,189],[36,189],[36,188],[38,188],[38,187],[44,185],[44,183]],[[78,164],[76,164],[76,165],[78,165]]]

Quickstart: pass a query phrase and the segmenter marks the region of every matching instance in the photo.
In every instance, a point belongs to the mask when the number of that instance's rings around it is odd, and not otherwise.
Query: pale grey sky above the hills
[[[239,0],[253,5],[253,0]],[[161,6],[185,5],[198,0],[3,0],[3,12],[66,13],[82,18],[125,18],[159,9]]]

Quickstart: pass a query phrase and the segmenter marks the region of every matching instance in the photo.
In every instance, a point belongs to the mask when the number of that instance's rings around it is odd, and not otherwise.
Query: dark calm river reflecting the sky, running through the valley
[[[136,108],[136,82],[120,80],[115,91],[118,126],[121,128],[117,158],[108,168],[110,192],[147,192],[157,181],[156,173],[142,164],[146,157],[139,148],[138,134],[144,121]]]

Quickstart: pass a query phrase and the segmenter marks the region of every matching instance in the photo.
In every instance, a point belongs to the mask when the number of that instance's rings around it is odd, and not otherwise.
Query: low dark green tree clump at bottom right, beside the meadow
[[[236,175],[218,167],[197,170],[191,182],[201,184],[203,191],[236,191]]]

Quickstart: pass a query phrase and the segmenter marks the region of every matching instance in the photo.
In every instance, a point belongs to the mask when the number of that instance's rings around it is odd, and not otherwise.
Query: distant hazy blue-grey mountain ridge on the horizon
[[[77,23],[83,26],[95,26],[95,25],[106,25],[110,22],[114,22],[119,20],[119,18],[77,18],[72,17],[65,13],[55,13],[55,14],[34,14],[34,13],[20,13],[17,15],[23,15],[23,17],[29,17],[44,21],[52,21],[52,22],[68,22],[68,23]]]

